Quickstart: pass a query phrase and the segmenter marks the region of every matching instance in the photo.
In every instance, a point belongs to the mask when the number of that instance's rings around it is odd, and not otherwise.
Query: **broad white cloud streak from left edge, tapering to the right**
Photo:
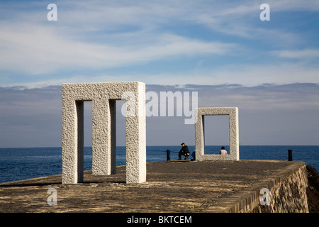
[[[130,34],[130,38],[136,39],[138,35]],[[11,25],[0,31],[0,67],[3,70],[30,74],[50,73],[73,67],[103,69],[181,55],[223,55],[236,46],[169,33],[148,35],[147,38],[149,40],[145,43],[143,40],[136,40],[134,45],[109,45],[72,40],[67,35],[55,33],[44,26]]]

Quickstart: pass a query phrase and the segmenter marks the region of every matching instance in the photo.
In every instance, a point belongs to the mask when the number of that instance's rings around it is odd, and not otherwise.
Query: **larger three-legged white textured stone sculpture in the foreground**
[[[146,181],[145,84],[62,84],[62,183],[83,182],[84,101],[92,101],[92,173],[116,173],[116,100],[126,99],[126,182]]]

